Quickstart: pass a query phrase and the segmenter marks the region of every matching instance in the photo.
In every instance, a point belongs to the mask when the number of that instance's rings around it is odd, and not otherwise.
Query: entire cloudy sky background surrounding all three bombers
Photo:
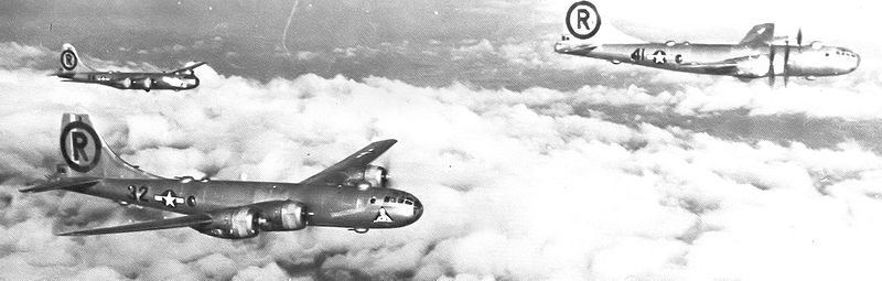
[[[0,279],[880,279],[875,3],[598,2],[650,41],[776,22],[862,57],[788,88],[557,55],[568,1],[292,4],[0,3]],[[46,76],[64,42],[103,69],[208,65],[186,91],[65,84]],[[56,237],[166,215],[18,193],[61,161],[63,112],[163,176],[297,182],[395,138],[377,163],[426,213],[366,235]]]

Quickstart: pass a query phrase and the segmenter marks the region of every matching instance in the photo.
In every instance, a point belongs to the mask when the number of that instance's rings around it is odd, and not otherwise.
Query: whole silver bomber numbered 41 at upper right
[[[573,3],[567,11],[568,35],[555,44],[555,52],[606,60],[613,64],[628,63],[668,71],[696,74],[728,75],[741,80],[768,77],[815,79],[853,72],[860,56],[845,47],[827,46],[820,42],[803,45],[803,32],[796,45],[788,37],[776,44],[775,25],[759,24],[738,44],[700,44],[668,41],[666,43],[616,44],[604,41],[602,21],[596,6],[589,1]],[[606,35],[606,37],[613,37]],[[621,42],[620,42],[621,43]]]

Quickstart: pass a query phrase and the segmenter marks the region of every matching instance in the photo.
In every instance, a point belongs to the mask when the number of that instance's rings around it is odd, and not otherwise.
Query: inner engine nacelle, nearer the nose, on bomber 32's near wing
[[[306,227],[306,206],[303,204],[292,201],[267,202],[255,207],[260,210],[260,230],[288,231]]]

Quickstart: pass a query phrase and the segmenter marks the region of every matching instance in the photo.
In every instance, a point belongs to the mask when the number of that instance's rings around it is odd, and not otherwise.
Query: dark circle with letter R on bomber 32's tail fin
[[[74,121],[62,129],[61,147],[64,162],[74,171],[86,173],[98,165],[101,143],[92,126]]]

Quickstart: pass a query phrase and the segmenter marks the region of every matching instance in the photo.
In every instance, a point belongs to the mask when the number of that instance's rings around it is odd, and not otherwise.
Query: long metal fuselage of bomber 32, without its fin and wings
[[[72,191],[181,214],[203,214],[268,201],[301,203],[311,226],[392,228],[422,215],[416,196],[392,188],[184,179],[103,179]],[[385,213],[388,219],[378,216]]]

